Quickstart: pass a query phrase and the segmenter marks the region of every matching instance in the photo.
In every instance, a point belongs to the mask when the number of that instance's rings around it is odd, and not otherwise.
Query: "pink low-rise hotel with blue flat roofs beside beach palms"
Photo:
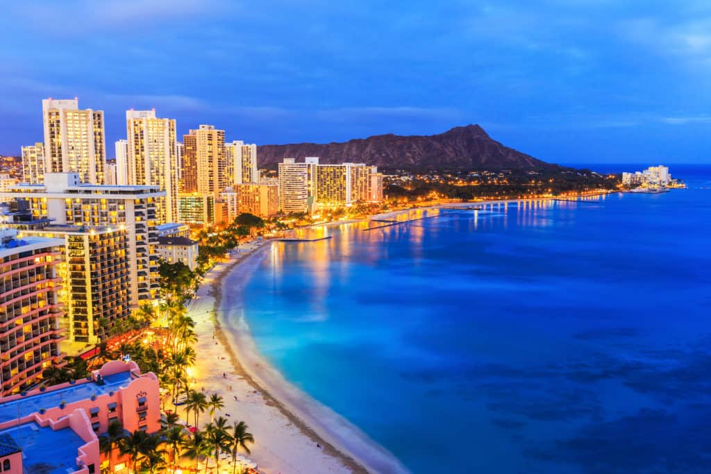
[[[155,374],[141,375],[135,362],[114,360],[90,379],[0,399],[0,472],[98,474],[108,460],[102,460],[97,435],[112,421],[128,432],[161,429]],[[114,472],[127,472],[117,453]]]

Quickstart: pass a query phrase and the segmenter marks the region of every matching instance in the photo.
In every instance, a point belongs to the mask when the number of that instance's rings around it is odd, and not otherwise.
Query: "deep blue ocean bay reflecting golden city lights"
[[[415,473],[709,473],[711,169],[671,171],[690,189],[278,244],[247,320]]]

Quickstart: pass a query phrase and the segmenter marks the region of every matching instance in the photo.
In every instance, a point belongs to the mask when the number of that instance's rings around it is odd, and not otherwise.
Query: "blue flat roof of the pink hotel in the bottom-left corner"
[[[11,438],[21,449],[26,474],[67,474],[78,470],[77,450],[86,444],[71,428],[55,431],[36,423],[6,429],[0,437]]]

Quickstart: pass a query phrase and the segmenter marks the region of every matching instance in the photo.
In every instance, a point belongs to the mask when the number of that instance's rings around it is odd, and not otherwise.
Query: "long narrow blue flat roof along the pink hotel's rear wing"
[[[75,385],[70,385],[63,389],[31,394],[27,397],[12,400],[11,402],[4,402],[0,404],[0,423],[10,421],[11,419],[23,418],[24,416],[40,411],[40,409],[59,406],[62,401],[66,404],[72,404],[80,400],[88,399],[92,395],[97,395],[98,397],[109,392],[114,392],[119,387],[127,387],[131,379],[130,370],[126,370],[125,372],[107,375],[102,379],[102,382],[77,382]]]

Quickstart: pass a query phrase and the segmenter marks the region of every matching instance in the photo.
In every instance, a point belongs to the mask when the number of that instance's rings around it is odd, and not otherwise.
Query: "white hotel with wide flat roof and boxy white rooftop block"
[[[56,225],[122,227],[126,230],[129,296],[132,306],[158,291],[156,225],[158,186],[89,185],[76,173],[46,173],[43,185],[18,185],[7,198],[26,200],[36,219],[49,217]]]

